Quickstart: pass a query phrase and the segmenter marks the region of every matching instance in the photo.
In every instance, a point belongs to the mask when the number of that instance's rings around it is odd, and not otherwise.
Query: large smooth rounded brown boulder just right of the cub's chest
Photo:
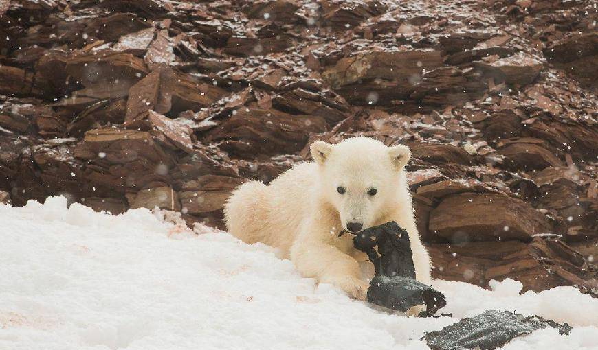
[[[522,200],[472,193],[443,197],[430,213],[430,231],[452,242],[529,241],[554,233],[549,220]]]

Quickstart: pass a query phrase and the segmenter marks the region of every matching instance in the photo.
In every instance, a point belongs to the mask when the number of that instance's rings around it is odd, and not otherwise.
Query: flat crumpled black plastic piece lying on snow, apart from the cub
[[[547,326],[569,334],[571,326],[560,325],[540,316],[522,316],[509,311],[488,310],[472,318],[463,318],[440,331],[431,331],[422,339],[433,350],[481,349],[492,350],[513,338],[530,334]]]

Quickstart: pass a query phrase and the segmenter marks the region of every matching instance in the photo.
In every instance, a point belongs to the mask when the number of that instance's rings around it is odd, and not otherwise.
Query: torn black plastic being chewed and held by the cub
[[[425,312],[418,316],[432,316],[446,305],[441,292],[415,280],[409,235],[397,222],[386,222],[357,233],[353,245],[368,255],[376,269],[368,289],[371,303],[401,312],[425,305]],[[376,246],[378,252],[374,249]]]

